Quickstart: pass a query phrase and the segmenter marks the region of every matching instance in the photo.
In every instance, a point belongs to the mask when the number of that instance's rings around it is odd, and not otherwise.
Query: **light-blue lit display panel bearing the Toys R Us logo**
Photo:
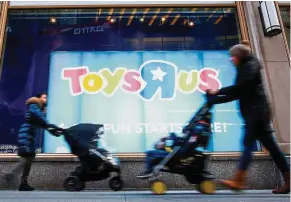
[[[61,127],[104,124],[115,152],[145,152],[183,126],[205,103],[205,90],[231,85],[228,51],[53,52],[47,117]],[[241,151],[243,122],[235,102],[217,105],[209,151]],[[231,144],[229,144],[231,142]],[[45,152],[70,152],[45,136]]]

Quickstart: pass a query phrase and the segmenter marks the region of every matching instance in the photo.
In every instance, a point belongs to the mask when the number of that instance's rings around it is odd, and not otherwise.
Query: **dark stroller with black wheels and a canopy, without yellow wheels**
[[[64,129],[63,135],[73,154],[78,156],[81,165],[65,179],[64,188],[68,191],[81,191],[89,181],[101,181],[111,177],[109,187],[114,191],[123,188],[119,159],[97,144],[104,133],[100,124],[78,124]]]

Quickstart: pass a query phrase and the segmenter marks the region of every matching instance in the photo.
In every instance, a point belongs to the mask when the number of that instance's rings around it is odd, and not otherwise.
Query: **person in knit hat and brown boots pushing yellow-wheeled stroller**
[[[241,115],[245,121],[244,150],[238,169],[231,180],[221,183],[234,190],[246,188],[247,168],[252,160],[252,151],[256,140],[269,151],[284,178],[284,185],[273,190],[274,194],[290,192],[290,168],[284,154],[273,138],[271,110],[264,89],[261,75],[262,65],[251,53],[248,41],[243,41],[230,48],[233,64],[237,67],[237,77],[234,85],[209,90],[208,94],[217,95],[215,104],[239,100]]]

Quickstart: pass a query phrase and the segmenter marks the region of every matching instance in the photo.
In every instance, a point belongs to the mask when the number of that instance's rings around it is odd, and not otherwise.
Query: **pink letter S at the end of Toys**
[[[129,92],[136,92],[140,89],[141,83],[137,79],[137,77],[140,77],[140,73],[137,71],[127,71],[127,73],[124,75],[124,81],[126,84],[123,84],[122,87],[124,90]]]

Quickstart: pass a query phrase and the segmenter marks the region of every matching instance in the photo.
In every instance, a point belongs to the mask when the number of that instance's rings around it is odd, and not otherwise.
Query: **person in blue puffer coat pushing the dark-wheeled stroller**
[[[14,169],[5,174],[4,179],[9,186],[15,186],[17,178],[22,173],[19,191],[33,191],[29,186],[27,178],[30,173],[31,165],[35,159],[35,136],[37,129],[44,128],[57,135],[56,131],[61,130],[53,124],[49,124],[45,119],[44,109],[47,103],[47,94],[40,93],[26,101],[27,112],[25,113],[24,124],[18,132],[18,156],[21,157]],[[54,131],[54,132],[53,132]]]

